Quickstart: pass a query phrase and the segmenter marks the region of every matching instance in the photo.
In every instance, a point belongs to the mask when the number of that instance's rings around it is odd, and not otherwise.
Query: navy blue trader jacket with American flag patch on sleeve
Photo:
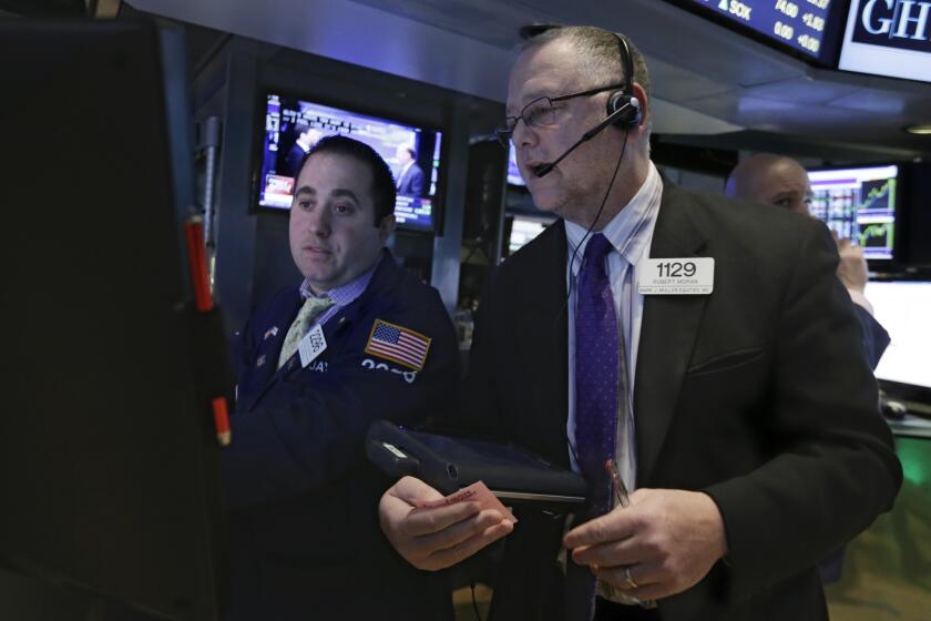
[[[229,509],[231,619],[442,619],[442,577],[387,543],[378,500],[391,481],[366,461],[379,418],[415,424],[451,403],[459,375],[449,316],[434,289],[390,253],[359,298],[324,325],[327,348],[276,370],[301,305],[279,292],[241,333],[233,442],[223,451]],[[365,353],[377,319],[431,338],[423,368]]]

